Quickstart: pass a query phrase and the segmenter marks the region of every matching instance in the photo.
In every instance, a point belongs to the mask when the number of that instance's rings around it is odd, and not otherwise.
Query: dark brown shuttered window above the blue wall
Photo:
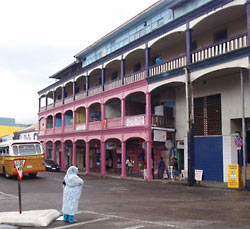
[[[221,95],[194,99],[195,136],[221,135]]]

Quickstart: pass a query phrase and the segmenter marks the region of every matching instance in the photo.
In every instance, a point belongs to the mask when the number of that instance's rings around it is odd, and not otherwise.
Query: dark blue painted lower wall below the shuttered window
[[[195,169],[203,170],[203,180],[223,181],[222,137],[195,137]]]

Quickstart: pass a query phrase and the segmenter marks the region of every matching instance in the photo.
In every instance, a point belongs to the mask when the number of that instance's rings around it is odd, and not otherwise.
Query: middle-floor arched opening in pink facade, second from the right
[[[105,118],[120,118],[121,117],[121,100],[118,98],[110,99],[105,104]]]

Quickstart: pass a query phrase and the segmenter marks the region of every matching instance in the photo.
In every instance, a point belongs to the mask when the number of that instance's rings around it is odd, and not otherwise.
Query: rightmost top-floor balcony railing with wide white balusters
[[[192,62],[202,61],[247,46],[247,33],[200,48],[192,52]]]

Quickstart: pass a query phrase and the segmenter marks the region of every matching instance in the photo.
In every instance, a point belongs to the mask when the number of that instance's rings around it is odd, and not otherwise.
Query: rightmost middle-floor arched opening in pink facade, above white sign
[[[146,113],[146,95],[143,92],[135,92],[126,97],[126,116],[134,116]]]

